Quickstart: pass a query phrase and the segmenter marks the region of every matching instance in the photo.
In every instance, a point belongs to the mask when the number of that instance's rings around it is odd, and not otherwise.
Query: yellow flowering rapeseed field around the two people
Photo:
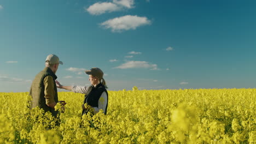
[[[59,92],[60,126],[0,93],[0,143],[256,143],[256,89],[109,91],[108,113],[81,116],[84,95]]]

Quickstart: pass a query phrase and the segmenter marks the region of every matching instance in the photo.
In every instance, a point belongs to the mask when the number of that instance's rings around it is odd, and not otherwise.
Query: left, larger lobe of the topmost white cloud
[[[114,3],[104,2],[104,3],[92,4],[88,9],[86,8],[84,9],[87,10],[92,15],[100,15],[107,12],[110,13],[113,11],[118,11],[120,10],[120,7],[118,7],[118,5]]]

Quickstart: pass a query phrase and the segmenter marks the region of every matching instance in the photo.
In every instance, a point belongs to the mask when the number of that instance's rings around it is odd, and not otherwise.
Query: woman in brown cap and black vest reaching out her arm
[[[96,114],[101,109],[104,114],[107,114],[108,108],[108,92],[106,81],[103,79],[103,72],[99,68],[91,68],[91,70],[86,70],[86,74],[89,75],[89,81],[91,82],[91,86],[62,86],[59,81],[56,81],[56,85],[58,88],[67,89],[74,93],[83,93],[85,94],[84,104],[87,103],[92,107],[94,113]],[[88,109],[85,108],[84,104],[83,115],[88,112]]]

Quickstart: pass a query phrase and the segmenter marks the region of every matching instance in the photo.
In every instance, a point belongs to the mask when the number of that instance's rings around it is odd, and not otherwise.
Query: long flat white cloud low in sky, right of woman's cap
[[[150,70],[158,70],[158,65],[149,64],[149,62],[145,62],[145,61],[127,61],[126,63],[123,63],[115,68],[117,69],[146,68]]]

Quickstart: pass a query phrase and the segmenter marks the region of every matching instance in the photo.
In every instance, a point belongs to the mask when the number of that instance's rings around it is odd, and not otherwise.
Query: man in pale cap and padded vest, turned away
[[[66,104],[65,101],[58,100],[55,82],[57,76],[55,74],[59,64],[63,64],[59,57],[56,55],[47,56],[44,70],[36,75],[30,88],[30,95],[32,96],[31,108],[39,106],[45,112],[50,111],[54,117],[57,117],[58,113],[54,109],[57,102],[60,102],[63,107]]]

